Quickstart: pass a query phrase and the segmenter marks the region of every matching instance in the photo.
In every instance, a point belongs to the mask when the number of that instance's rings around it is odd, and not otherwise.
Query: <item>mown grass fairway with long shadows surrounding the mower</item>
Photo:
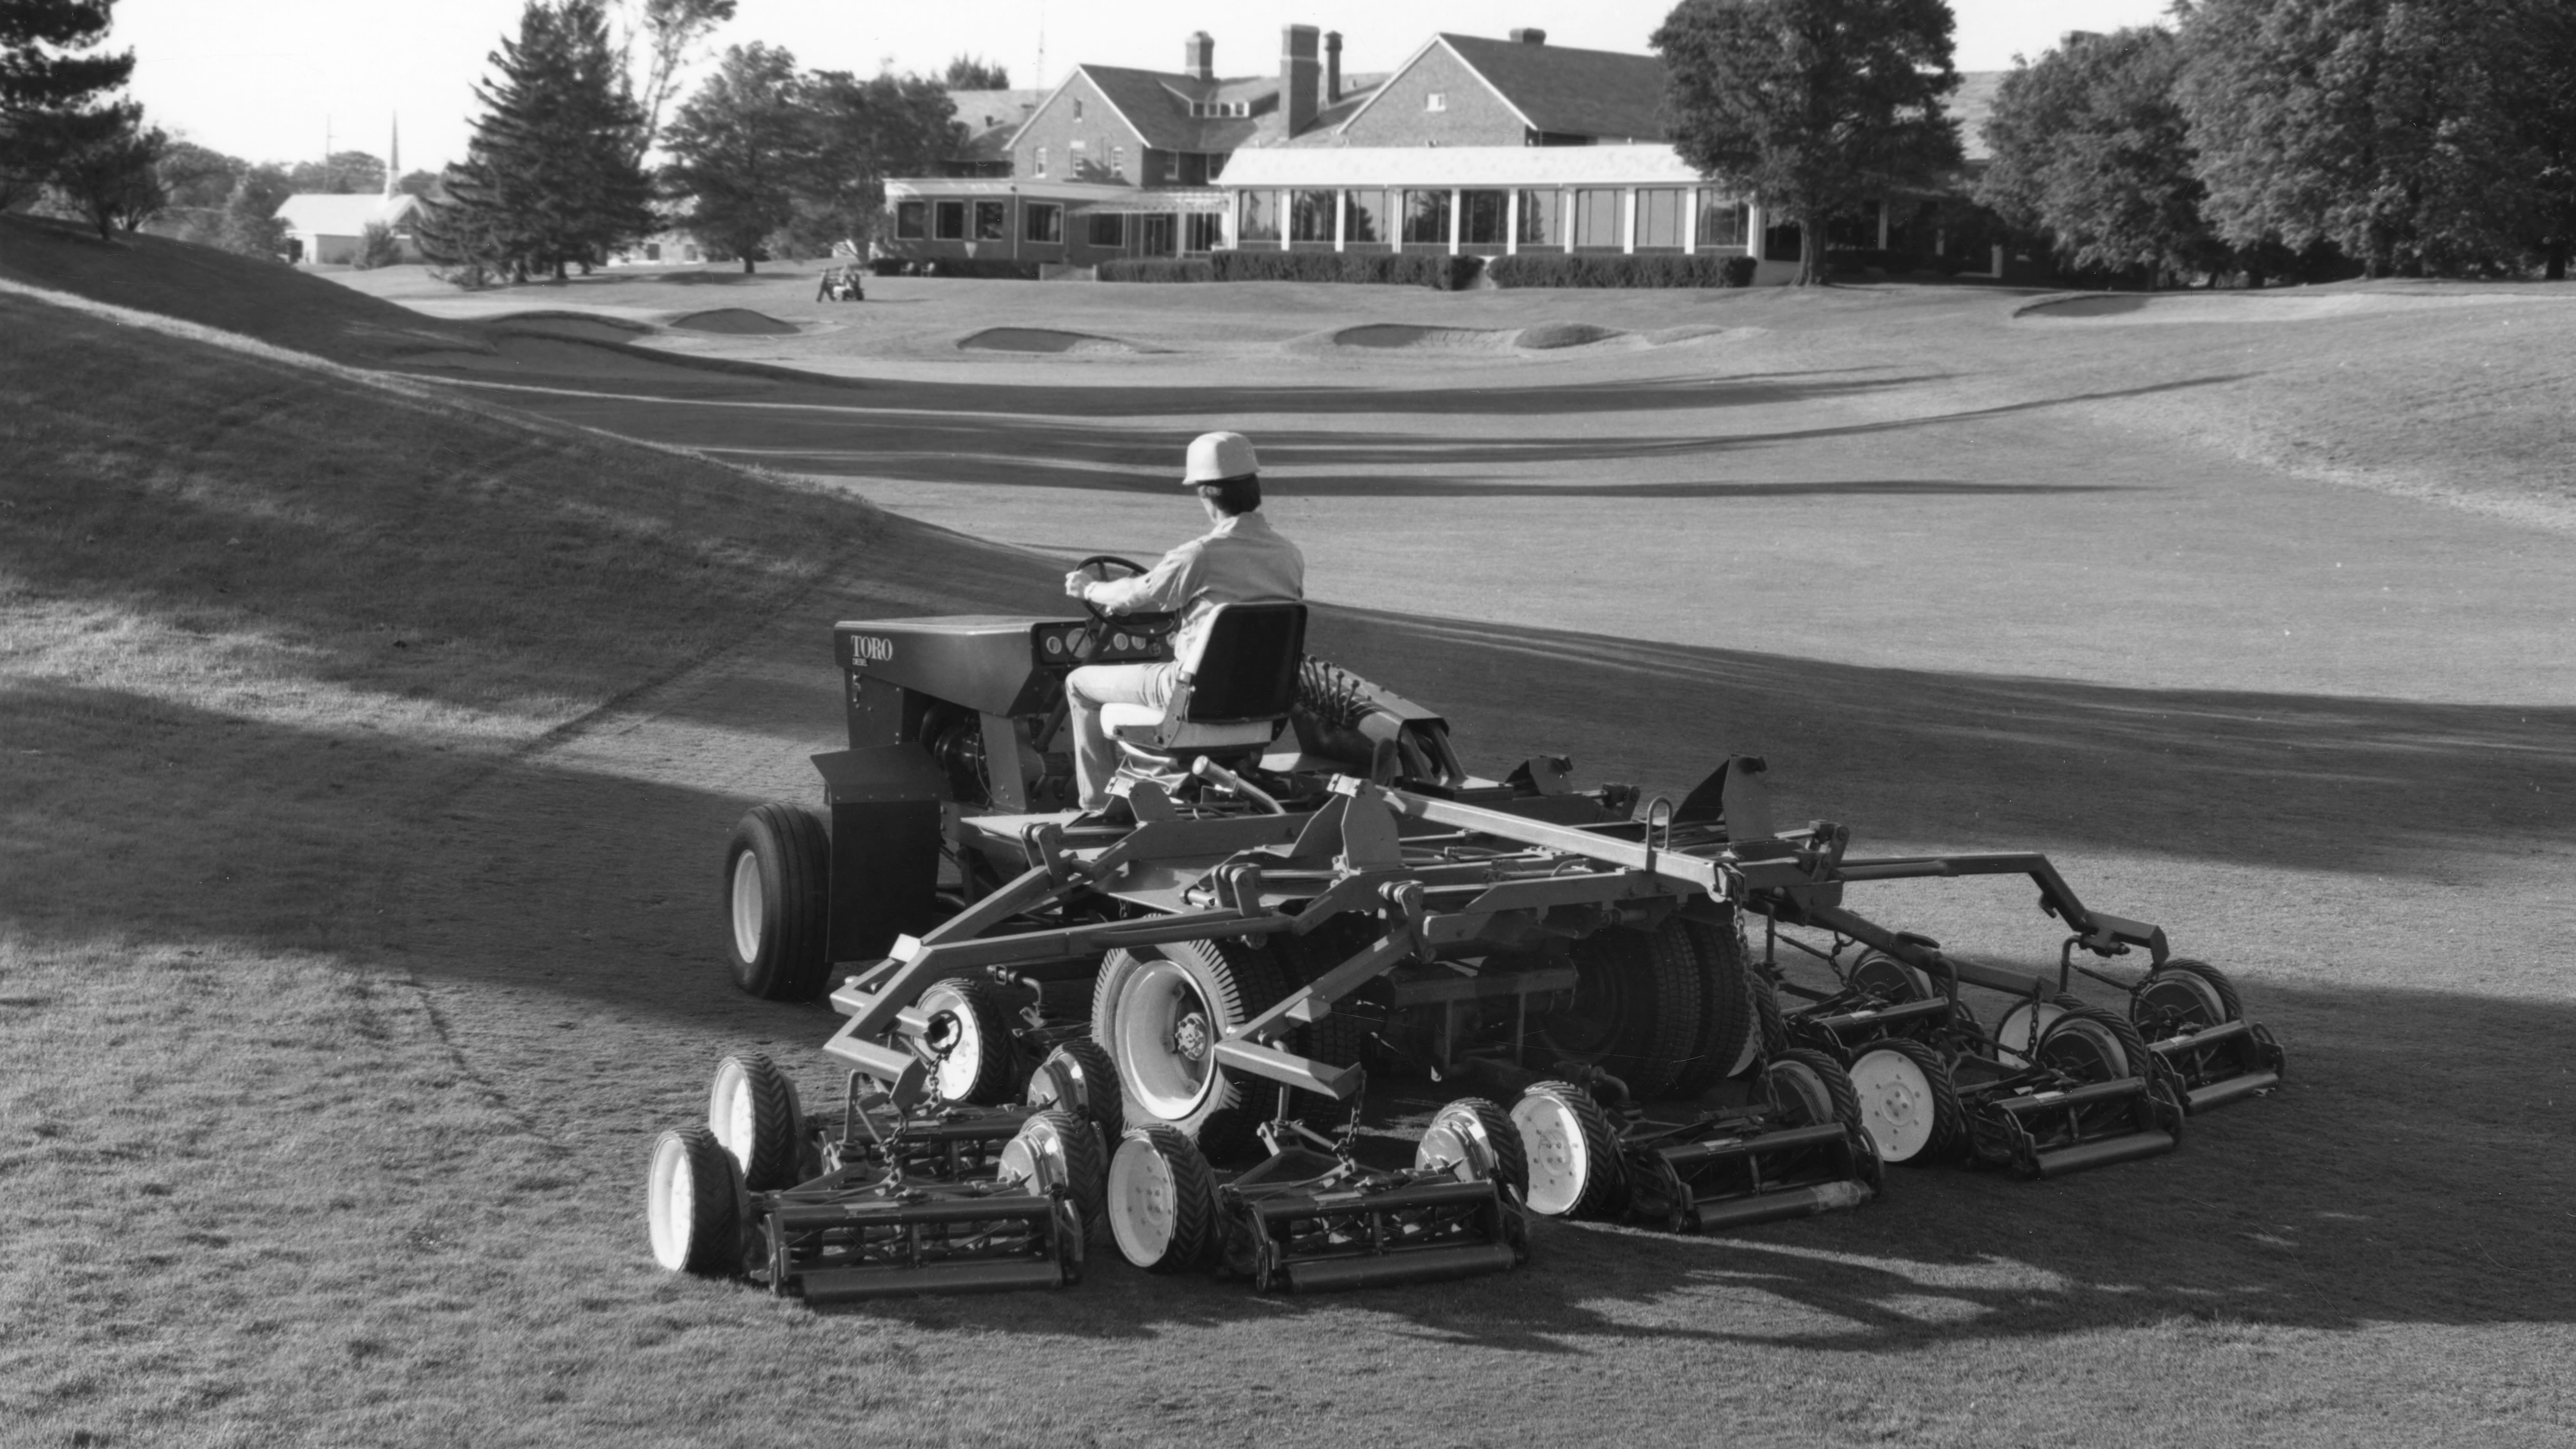
[[[0,291],[10,1449],[2576,1434],[2576,541],[2524,456],[2563,420],[2391,384],[2488,322],[2563,338],[2563,302],[2210,333],[1929,289],[832,312],[804,276],[430,320],[224,260],[206,302],[134,255],[0,222],[0,284],[404,371]],[[688,353],[657,361],[492,320],[592,304],[817,330],[649,333]],[[1672,338],[1314,340],[1551,322]],[[1172,351],[953,345],[1005,325]],[[2450,428],[2442,469],[2290,467],[2339,353],[2378,358],[2347,433]],[[2566,358],[2496,351],[2494,397]],[[837,730],[827,621],[1048,608],[1046,554],[1188,526],[1162,474],[1213,423],[1275,459],[1319,652],[1476,763],[1677,789],[1744,748],[1873,848],[2043,846],[2236,969],[2290,1085],[2156,1163],[1901,1173],[1705,1240],[1540,1225],[1530,1271],[1450,1287],[1255,1299],[1095,1258],[1066,1294],[817,1315],[662,1276],[649,1134],[724,1049],[804,1067],[832,1026],[734,995],[711,905],[729,820],[806,797]],[[2017,887],[1860,905],[2053,949]]]

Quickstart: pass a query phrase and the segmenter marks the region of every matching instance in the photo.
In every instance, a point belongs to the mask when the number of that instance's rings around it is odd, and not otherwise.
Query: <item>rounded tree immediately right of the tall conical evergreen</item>
[[[796,57],[752,41],[732,46],[716,75],[680,106],[662,137],[665,196],[683,224],[742,271],[796,217],[796,188],[814,173],[814,124]]]

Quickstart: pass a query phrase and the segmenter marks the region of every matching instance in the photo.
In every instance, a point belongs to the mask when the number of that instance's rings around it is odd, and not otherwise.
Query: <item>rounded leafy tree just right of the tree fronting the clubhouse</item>
[[[2014,67],[1986,121],[1994,160],[1976,199],[2048,237],[2071,268],[2156,284],[2223,266],[2226,248],[2200,219],[2179,72],[2182,44],[2159,28],[2074,39]]]

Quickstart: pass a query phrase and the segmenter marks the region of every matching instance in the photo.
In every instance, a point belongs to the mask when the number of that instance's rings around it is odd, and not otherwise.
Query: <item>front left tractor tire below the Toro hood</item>
[[[811,1000],[832,969],[832,838],[796,804],[755,804],[724,848],[726,959],[734,985]]]

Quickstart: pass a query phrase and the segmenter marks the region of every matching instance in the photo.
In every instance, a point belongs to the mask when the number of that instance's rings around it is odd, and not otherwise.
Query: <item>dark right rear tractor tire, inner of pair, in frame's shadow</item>
[[[1680,931],[1613,926],[1574,944],[1574,1006],[1548,1018],[1548,1047],[1615,1075],[1636,1101],[1672,1091],[1700,1034],[1700,972]]]

